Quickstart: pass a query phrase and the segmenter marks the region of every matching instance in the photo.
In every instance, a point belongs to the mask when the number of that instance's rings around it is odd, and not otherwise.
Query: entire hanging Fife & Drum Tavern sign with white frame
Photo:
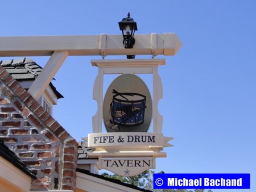
[[[90,158],[98,158],[98,168],[121,176],[135,176],[155,168],[156,157],[172,137],[163,136],[163,117],[158,112],[162,82],[158,66],[164,59],[92,60],[98,67],[93,98],[98,109],[93,116],[93,133],[84,138]],[[104,75],[119,74],[103,97]],[[152,74],[152,93],[138,74]],[[152,99],[153,98],[153,99]],[[102,132],[102,124],[105,132]],[[152,132],[148,132],[152,126]]]

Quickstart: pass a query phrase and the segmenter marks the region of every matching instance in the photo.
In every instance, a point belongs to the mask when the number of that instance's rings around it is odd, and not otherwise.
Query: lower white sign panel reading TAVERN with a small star
[[[155,168],[155,157],[142,158],[99,158],[99,169],[106,169],[119,176],[136,176],[147,169]]]

